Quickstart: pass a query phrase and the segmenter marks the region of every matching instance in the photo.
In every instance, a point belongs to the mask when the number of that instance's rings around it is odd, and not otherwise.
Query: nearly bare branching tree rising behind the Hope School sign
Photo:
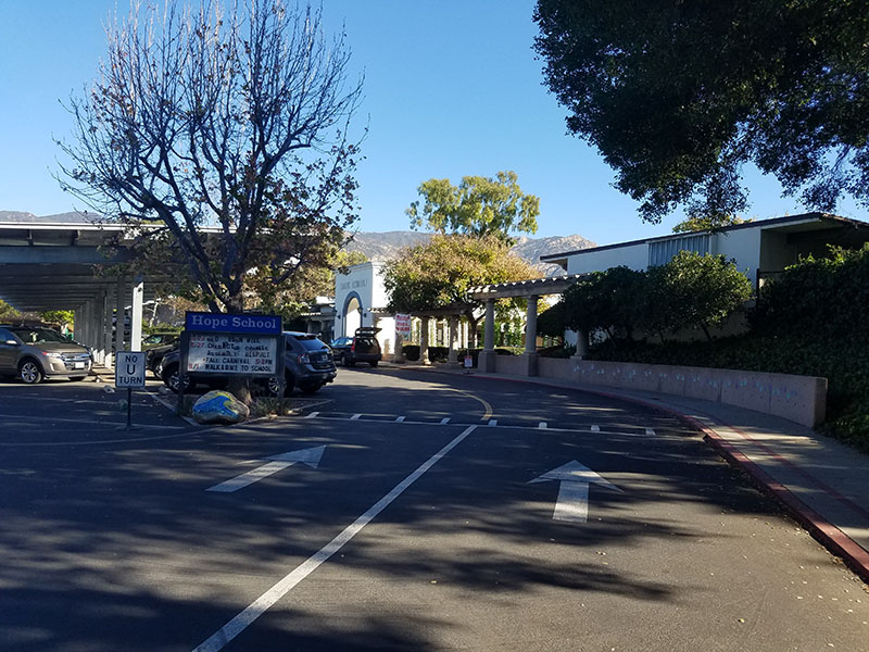
[[[227,2],[229,2],[227,7]],[[106,28],[100,79],[73,98],[61,183],[182,262],[214,312],[245,276],[326,264],[357,218],[344,36],[281,0],[134,2]],[[150,228],[139,228],[143,224]]]

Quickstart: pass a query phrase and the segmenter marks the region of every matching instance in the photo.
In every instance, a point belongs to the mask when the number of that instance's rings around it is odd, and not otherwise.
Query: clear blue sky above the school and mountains
[[[80,97],[106,52],[103,25],[128,0],[0,0],[0,211],[86,209],[54,175]],[[356,124],[368,126],[357,168],[360,230],[406,230],[404,211],[429,178],[518,175],[540,198],[536,236],[597,244],[666,235],[683,216],[643,223],[596,150],[566,131],[532,50],[533,0],[323,0],[328,33],[347,33],[351,79],[364,75]],[[638,110],[642,110],[638,108]],[[805,212],[774,179],[747,173],[745,217]],[[869,221],[853,202],[837,214]]]

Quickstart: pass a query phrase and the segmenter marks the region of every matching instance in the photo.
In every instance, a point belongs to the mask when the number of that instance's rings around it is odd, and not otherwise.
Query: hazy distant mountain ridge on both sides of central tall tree
[[[353,241],[347,246],[348,251],[360,251],[375,262],[386,262],[395,258],[405,247],[412,247],[426,242],[431,234],[419,231],[386,231],[371,233],[361,231],[353,236]],[[549,238],[527,238],[525,236],[516,239],[516,244],[511,251],[520,259],[527,261],[546,276],[559,276],[565,271],[558,265],[541,263],[541,255],[553,253],[564,253],[578,249],[595,247],[591,240],[582,236],[551,236]]]

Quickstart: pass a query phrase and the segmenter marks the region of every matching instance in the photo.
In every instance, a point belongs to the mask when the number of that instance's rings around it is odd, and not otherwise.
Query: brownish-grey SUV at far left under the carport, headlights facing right
[[[87,347],[43,326],[0,325],[0,375],[28,385],[46,378],[84,380],[93,365]]]

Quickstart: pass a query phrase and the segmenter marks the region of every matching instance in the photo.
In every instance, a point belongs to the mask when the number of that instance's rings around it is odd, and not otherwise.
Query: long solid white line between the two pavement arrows
[[[355,537],[362,528],[368,525],[380,512],[387,509],[392,501],[401,496],[407,487],[418,480],[423,474],[429,468],[434,466],[443,456],[445,456],[455,447],[462,443],[465,438],[470,435],[477,426],[468,426],[462,434],[453,439],[450,443],[443,447],[440,451],[434,453],[419,468],[404,478],[401,482],[387,493],[383,498],[377,501],[365,514],[356,518],[351,525],[344,528],[335,539],[329,541],[326,546],[319,549],[306,561],[302,562],[292,572],[290,572],[284,579],[279,580],[275,586],[268,589],[265,593],[254,600],[244,611],[238,614],[235,618],[229,620],[226,625],[221,627],[212,636],[210,636],[202,644],[193,649],[193,652],[217,652],[222,650],[229,641],[241,634],[249,625],[256,618],[262,616],[272,605],[278,600],[289,593],[305,577],[311,575],[324,562],[328,561],[336,552],[341,550],[353,537]]]

